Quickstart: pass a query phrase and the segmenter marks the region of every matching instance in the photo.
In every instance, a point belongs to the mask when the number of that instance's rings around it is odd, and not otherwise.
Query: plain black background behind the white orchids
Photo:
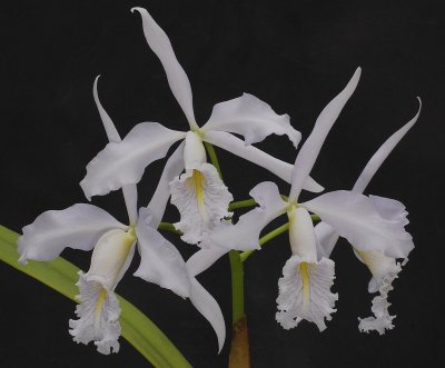
[[[313,177],[328,190],[349,189],[379,145],[417,109],[417,125],[367,192],[396,198],[409,211],[416,249],[395,282],[396,328],[364,335],[357,317],[369,314],[369,275],[346,241],[333,255],[337,312],[327,330],[301,322],[286,331],[275,321],[277,280],[289,257],[286,236],[246,265],[246,308],[253,367],[437,367],[445,365],[443,321],[444,215],[444,13],[441,1],[14,1],[0,9],[0,222],[19,231],[44,210],[85,202],[78,182],[107,142],[93,103],[101,101],[119,132],[141,121],[187,129],[164,70],[144,38],[134,6],[146,7],[170,37],[188,73],[201,125],[215,103],[250,92],[289,113],[304,138],[324,106],[357,66],[363,77],[319,156]],[[281,137],[260,148],[293,161]],[[218,150],[237,199],[265,170]],[[164,160],[139,185],[147,205]],[[276,180],[277,181],[277,180]],[[288,186],[277,181],[283,192]],[[125,221],[120,192],[93,203]],[[169,208],[166,220],[178,213]],[[283,222],[278,220],[276,225]],[[175,238],[170,238],[175,239]],[[175,240],[188,257],[195,248]],[[83,270],[89,253],[66,250]],[[225,367],[229,340],[217,355],[216,337],[188,301],[131,276],[117,291],[147,314],[196,367]],[[199,279],[230,321],[226,258]],[[75,305],[26,275],[0,263],[2,367],[144,367],[122,338],[118,355],[77,346],[68,334]],[[230,336],[230,330],[228,335]]]

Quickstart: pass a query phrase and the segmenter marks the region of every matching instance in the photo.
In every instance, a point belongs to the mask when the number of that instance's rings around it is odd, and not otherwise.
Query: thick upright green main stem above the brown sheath
[[[244,267],[238,250],[229,251],[231,269],[231,325],[244,318]]]

